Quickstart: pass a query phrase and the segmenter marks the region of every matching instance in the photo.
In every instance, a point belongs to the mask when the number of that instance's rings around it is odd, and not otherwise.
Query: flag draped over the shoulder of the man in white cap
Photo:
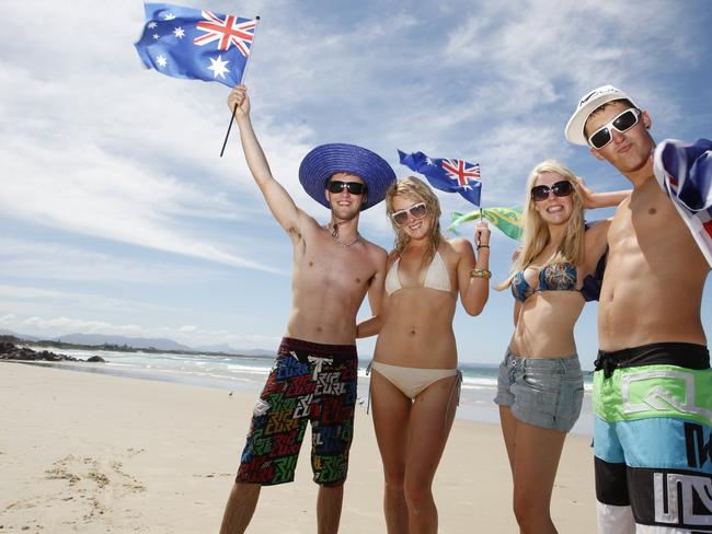
[[[712,141],[666,139],[655,148],[654,170],[712,266]]]

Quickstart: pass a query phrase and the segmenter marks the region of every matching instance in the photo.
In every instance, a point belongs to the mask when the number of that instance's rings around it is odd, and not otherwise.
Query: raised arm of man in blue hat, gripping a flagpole
[[[260,141],[252,129],[250,120],[250,98],[248,88],[236,85],[228,96],[230,112],[234,111],[234,119],[240,128],[242,150],[254,181],[260,186],[267,201],[269,211],[285,230],[299,227],[301,211],[295,205],[287,190],[272,175],[267,159],[262,151]],[[237,106],[237,108],[236,108]]]

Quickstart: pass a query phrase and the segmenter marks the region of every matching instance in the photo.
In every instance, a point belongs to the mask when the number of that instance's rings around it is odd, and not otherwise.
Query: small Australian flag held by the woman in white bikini
[[[448,193],[459,193],[467,200],[480,206],[480,164],[464,160],[436,160],[423,152],[405,154],[398,151],[401,163],[416,173],[425,175],[430,185]]]

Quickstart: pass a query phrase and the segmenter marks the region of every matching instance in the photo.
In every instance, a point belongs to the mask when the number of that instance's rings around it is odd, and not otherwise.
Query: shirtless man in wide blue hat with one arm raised
[[[228,499],[221,534],[248,527],[262,486],[288,483],[307,421],[311,465],[319,484],[319,533],[338,531],[356,402],[356,313],[368,293],[378,313],[386,251],[357,231],[361,210],[380,202],[395,181],[380,156],[352,144],[324,144],[301,163],[299,181],[331,209],[321,225],[301,211],[272,176],[250,121],[244,85],[228,97],[236,106],[244,155],[277,222],[294,247],[292,305],[272,373],[254,408],[240,469]]]

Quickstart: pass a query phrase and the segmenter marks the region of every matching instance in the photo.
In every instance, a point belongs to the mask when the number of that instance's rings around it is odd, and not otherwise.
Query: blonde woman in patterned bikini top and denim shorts
[[[586,294],[584,281],[606,251],[609,227],[601,221],[586,231],[584,208],[615,206],[628,193],[594,194],[553,160],[538,164],[527,179],[524,244],[512,276],[497,287],[509,287],[515,297],[515,332],[494,399],[522,533],[556,532],[551,492],[584,396],[574,325],[586,299],[596,298]]]

